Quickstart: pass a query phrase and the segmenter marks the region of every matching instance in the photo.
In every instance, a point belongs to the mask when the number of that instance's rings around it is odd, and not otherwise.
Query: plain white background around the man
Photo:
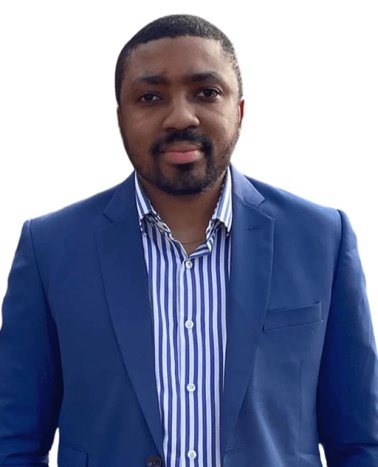
[[[130,173],[113,93],[114,65],[124,43],[158,16],[192,13],[224,30],[238,51],[246,115],[235,165],[347,212],[378,329],[377,2],[177,5],[2,0],[0,295],[25,219],[106,189]]]

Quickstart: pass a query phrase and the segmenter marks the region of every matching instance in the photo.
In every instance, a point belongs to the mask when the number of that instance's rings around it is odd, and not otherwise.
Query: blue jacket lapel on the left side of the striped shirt
[[[96,240],[114,333],[148,427],[162,450],[153,322],[132,176],[120,185],[104,214],[111,223],[97,232]]]

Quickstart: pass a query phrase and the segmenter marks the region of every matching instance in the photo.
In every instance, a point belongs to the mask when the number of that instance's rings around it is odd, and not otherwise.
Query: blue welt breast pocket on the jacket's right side
[[[273,331],[274,329],[302,326],[322,320],[323,313],[320,302],[294,308],[278,308],[267,311],[263,330]]]

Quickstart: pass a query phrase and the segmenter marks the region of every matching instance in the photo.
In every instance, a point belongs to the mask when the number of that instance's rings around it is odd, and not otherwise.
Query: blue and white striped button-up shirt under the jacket
[[[135,188],[153,312],[165,465],[219,466],[231,174],[228,170],[204,243],[189,256],[153,209],[137,176]]]

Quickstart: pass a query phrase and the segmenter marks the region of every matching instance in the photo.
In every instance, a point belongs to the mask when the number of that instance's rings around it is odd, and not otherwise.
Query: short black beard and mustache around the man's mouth
[[[239,128],[236,127],[228,145],[220,154],[214,153],[214,144],[210,138],[195,130],[186,129],[169,133],[158,138],[150,147],[151,165],[149,167],[138,163],[140,158],[133,151],[121,130],[124,147],[139,178],[156,186],[161,191],[174,196],[190,196],[205,192],[225,174],[230,165],[231,155],[239,139]],[[169,174],[163,172],[160,157],[165,145],[175,142],[195,142],[200,145],[204,155],[204,164],[198,162],[177,164]],[[204,165],[204,166],[203,166]]]

